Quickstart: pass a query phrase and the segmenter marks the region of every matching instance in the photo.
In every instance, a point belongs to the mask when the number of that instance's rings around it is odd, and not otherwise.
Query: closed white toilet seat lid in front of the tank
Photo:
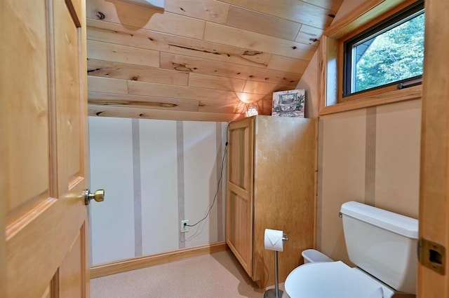
[[[387,298],[381,283],[341,261],[307,263],[288,274],[291,298]]]

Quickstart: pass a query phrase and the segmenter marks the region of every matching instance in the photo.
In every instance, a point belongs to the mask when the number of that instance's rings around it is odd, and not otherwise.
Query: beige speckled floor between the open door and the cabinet
[[[91,298],[260,298],[264,292],[229,250],[91,280]]]

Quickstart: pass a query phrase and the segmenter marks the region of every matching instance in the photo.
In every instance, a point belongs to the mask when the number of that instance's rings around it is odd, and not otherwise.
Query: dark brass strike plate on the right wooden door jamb
[[[434,241],[418,240],[418,261],[438,274],[445,274],[445,247]]]

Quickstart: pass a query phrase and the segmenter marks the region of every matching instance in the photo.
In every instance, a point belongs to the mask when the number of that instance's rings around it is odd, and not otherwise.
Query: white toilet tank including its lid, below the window
[[[349,260],[391,288],[416,294],[418,220],[356,201],[340,212]]]

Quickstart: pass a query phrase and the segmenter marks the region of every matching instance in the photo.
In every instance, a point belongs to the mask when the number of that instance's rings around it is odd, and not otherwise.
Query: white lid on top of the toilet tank
[[[418,238],[418,220],[415,220],[415,218],[409,218],[405,215],[361,204],[356,201],[348,201],[342,204],[340,212],[410,239]]]

